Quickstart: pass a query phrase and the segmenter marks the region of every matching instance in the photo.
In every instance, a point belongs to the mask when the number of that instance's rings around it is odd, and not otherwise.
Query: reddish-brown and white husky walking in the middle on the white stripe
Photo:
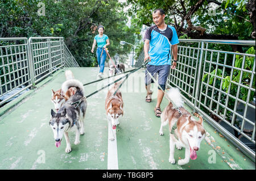
[[[113,95],[117,90],[120,83],[116,82],[114,86],[108,91],[105,101],[106,116],[108,119],[109,125],[112,127],[112,136],[110,137],[111,141],[114,141],[114,130],[119,124],[118,119],[123,116],[123,99],[121,91],[118,90],[117,94]]]

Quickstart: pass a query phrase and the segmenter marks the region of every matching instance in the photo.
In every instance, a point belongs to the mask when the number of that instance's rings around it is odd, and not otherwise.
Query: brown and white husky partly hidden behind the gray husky
[[[71,70],[65,71],[65,77],[67,79],[64,89],[53,91],[51,101],[54,104],[55,110],[58,112],[60,107],[69,99],[70,96],[74,95],[77,89],[83,91],[84,87],[82,83],[74,79],[74,75]]]

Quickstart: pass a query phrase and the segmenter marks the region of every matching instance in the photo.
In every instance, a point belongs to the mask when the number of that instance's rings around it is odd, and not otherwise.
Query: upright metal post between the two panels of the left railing
[[[34,58],[33,58],[33,52],[32,52],[32,45],[31,45],[31,38],[28,39],[27,44],[27,62],[28,62],[28,71],[31,79],[31,88],[36,88],[35,86],[35,68],[34,68]]]

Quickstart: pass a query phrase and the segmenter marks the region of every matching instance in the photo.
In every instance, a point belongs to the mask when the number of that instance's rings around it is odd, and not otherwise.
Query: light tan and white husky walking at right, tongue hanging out
[[[170,102],[166,108],[164,108],[161,114],[161,125],[159,134],[163,135],[163,126],[169,124],[170,131],[170,157],[169,162],[174,164],[174,150],[175,145],[177,149],[185,148],[185,158],[179,159],[177,162],[179,165],[185,165],[191,159],[196,159],[196,151],[200,148],[200,143],[205,137],[205,129],[203,127],[203,119],[200,116],[199,121],[193,119],[191,114],[185,110],[183,106],[183,100],[181,98],[179,89],[171,88],[167,92],[168,98],[175,104],[176,107]],[[179,110],[177,109],[179,108]],[[180,113],[180,112],[181,113]],[[174,134],[171,134],[172,127],[177,123],[177,128]]]

